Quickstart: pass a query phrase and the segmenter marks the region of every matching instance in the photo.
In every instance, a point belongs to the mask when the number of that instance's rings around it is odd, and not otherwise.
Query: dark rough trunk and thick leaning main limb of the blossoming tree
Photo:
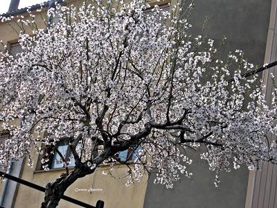
[[[187,112],[186,112],[187,113]],[[186,114],[185,113],[185,114]],[[78,158],[77,154],[73,154],[75,156],[75,169],[69,173],[69,175],[66,175],[63,173],[60,177],[58,177],[54,182],[49,182],[46,185],[46,191],[45,191],[45,197],[44,202],[42,202],[42,208],[55,208],[57,207],[58,203],[60,202],[60,199],[64,195],[64,192],[67,188],[73,184],[78,178],[84,177],[86,175],[89,175],[91,173],[94,173],[96,168],[105,161],[105,159],[108,159],[109,157],[112,157],[119,151],[127,150],[129,147],[131,147],[134,144],[139,144],[139,141],[143,139],[144,137],[147,137],[150,135],[152,128],[157,129],[176,129],[181,130],[181,132],[190,131],[186,126],[180,125],[180,121],[183,121],[185,116],[183,116],[179,121],[177,122],[168,122],[168,123],[154,123],[149,122],[145,124],[145,130],[142,130],[141,132],[137,133],[136,135],[133,135],[129,141],[123,141],[119,144],[114,144],[111,146],[111,144],[106,144],[105,150],[98,155],[93,160],[87,160],[86,162],[80,162],[80,158]],[[192,140],[186,140],[184,138],[181,138],[181,143],[187,143],[187,142],[197,142],[201,144],[210,144],[213,146],[222,146],[221,144],[212,143],[205,141],[207,137],[209,137],[212,134],[212,132],[202,138],[197,139],[196,141]],[[82,135],[80,135],[75,141],[73,141],[73,148],[71,146],[71,150],[74,150],[75,146],[77,145],[78,141]],[[93,167],[93,168],[92,168]]]

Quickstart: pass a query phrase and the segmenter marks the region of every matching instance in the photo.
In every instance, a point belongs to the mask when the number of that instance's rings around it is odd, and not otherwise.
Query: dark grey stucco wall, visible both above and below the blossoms
[[[242,49],[249,62],[261,66],[265,58],[270,7],[269,0],[195,0],[191,33],[199,34],[205,17],[209,16],[205,34],[217,42],[224,35],[227,37],[222,58],[229,51]],[[153,184],[154,175],[151,175],[145,194],[145,208],[244,207],[249,176],[247,168],[222,173],[220,187],[215,188],[215,173],[208,171],[208,165],[199,159],[199,153],[190,152],[189,155],[193,164],[188,171],[193,172],[193,177],[188,179],[181,175],[173,189],[164,189]]]

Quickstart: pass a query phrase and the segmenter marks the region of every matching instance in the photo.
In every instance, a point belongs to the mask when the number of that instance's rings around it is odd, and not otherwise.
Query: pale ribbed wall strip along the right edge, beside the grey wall
[[[271,0],[271,15],[269,21],[269,33],[267,35],[267,50],[265,53],[265,63],[277,60],[277,1]],[[265,89],[265,98],[271,106],[272,92],[274,91],[275,80],[271,79],[271,73],[277,76],[277,67],[272,67],[263,73],[263,83],[267,86]],[[269,136],[269,140],[276,140],[275,136]],[[263,163],[260,171],[251,173],[249,177],[249,205],[246,208],[267,208],[277,207],[277,166],[271,163]]]

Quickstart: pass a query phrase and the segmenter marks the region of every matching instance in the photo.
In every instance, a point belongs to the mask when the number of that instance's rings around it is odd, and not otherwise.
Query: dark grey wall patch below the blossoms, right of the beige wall
[[[199,152],[190,151],[187,155],[193,159],[193,164],[187,166],[193,176],[180,175],[173,189],[166,189],[161,184],[154,184],[155,175],[152,174],[145,194],[145,208],[244,207],[249,173],[246,167],[230,173],[222,172],[221,182],[216,188],[213,184],[215,172],[208,170],[208,164],[199,158]]]

